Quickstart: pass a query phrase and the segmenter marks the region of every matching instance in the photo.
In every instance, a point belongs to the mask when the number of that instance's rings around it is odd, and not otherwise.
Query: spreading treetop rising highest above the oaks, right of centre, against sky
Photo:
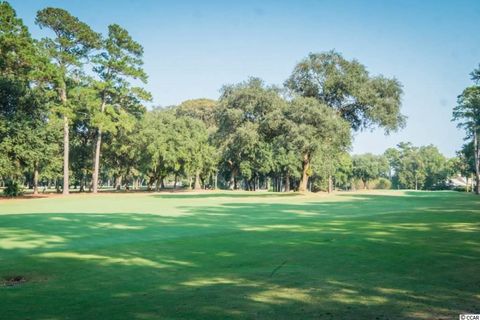
[[[310,54],[295,66],[285,86],[336,110],[354,130],[378,125],[388,133],[405,124],[400,82],[372,77],[358,61],[335,51]]]

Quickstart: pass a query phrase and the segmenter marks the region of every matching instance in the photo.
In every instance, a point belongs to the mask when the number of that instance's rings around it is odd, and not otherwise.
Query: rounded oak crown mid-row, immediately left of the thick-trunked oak
[[[272,170],[272,146],[267,142],[272,138],[269,116],[283,105],[278,91],[257,78],[222,89],[215,140],[231,183],[237,178],[250,183]]]

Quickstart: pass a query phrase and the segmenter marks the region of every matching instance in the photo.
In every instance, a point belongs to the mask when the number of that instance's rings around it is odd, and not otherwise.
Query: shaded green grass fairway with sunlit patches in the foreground
[[[458,319],[479,232],[455,192],[0,200],[0,319]]]

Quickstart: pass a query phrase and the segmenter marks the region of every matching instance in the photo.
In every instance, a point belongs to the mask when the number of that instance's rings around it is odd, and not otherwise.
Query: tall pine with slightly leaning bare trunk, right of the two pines
[[[92,108],[92,126],[96,129],[92,185],[97,192],[100,171],[102,134],[115,135],[117,130],[129,131],[132,116],[138,116],[141,103],[150,100],[142,88],[131,87],[130,80],[147,81],[142,69],[143,47],[132,39],[127,30],[117,24],[108,26],[108,37],[101,51],[93,58],[93,71],[100,81],[95,83],[99,102]],[[140,112],[139,112],[140,111]],[[128,169],[127,172],[130,172]]]

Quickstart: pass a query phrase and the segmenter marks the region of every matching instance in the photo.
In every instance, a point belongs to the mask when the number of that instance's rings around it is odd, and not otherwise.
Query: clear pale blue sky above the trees
[[[110,23],[145,48],[156,105],[217,98],[223,84],[257,76],[282,84],[309,52],[335,49],[404,86],[407,127],[356,134],[355,153],[400,141],[453,156],[463,133],[450,122],[480,63],[480,1],[10,1],[35,37],[35,13],[61,7],[105,33]]]

